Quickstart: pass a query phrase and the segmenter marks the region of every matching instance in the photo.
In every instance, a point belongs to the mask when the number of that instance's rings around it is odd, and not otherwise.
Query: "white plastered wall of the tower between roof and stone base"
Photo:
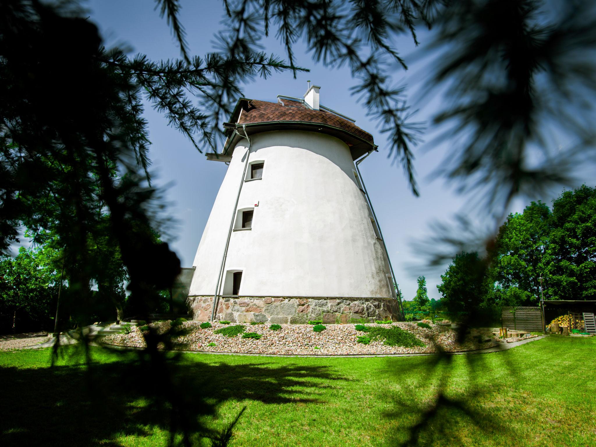
[[[306,131],[251,139],[249,163],[264,160],[263,178],[243,182],[237,209],[259,206],[250,231],[232,232],[224,267],[243,271],[239,294],[391,297],[389,265],[347,145]],[[234,149],[198,246],[190,295],[215,294],[247,145],[243,139]]]

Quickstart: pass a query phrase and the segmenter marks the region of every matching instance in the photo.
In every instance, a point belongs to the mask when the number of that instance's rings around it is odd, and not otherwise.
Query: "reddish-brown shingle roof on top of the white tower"
[[[246,107],[246,106],[245,106]],[[243,108],[238,124],[266,122],[308,122],[333,126],[350,132],[359,138],[374,144],[373,135],[363,131],[354,123],[325,110],[312,110],[298,101],[284,100],[283,104],[267,101],[249,100]]]

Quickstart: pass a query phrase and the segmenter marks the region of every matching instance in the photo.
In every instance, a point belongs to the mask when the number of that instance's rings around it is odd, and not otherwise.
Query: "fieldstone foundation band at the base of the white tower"
[[[209,321],[213,296],[189,296],[188,307],[194,321]],[[398,300],[389,298],[299,298],[299,297],[219,297],[215,319],[238,323],[263,322],[305,324],[322,320],[327,324],[352,319],[399,321]]]

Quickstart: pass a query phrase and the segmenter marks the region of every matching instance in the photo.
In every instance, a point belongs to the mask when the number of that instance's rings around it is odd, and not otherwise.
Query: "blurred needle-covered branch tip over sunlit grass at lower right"
[[[491,371],[487,355],[498,355],[498,352],[457,356],[439,353],[420,361],[416,377],[406,382],[403,377],[409,371],[404,369],[405,365],[391,362],[390,373],[401,382],[401,387],[400,392],[393,395],[392,411],[384,416],[396,420],[408,414],[409,423],[393,433],[390,445],[467,446],[470,445],[466,439],[470,429],[488,438],[499,434],[515,439],[513,429],[502,415],[477,405],[493,392],[482,383],[482,378]],[[503,368],[514,377],[515,365],[507,361],[506,356],[501,359]]]

